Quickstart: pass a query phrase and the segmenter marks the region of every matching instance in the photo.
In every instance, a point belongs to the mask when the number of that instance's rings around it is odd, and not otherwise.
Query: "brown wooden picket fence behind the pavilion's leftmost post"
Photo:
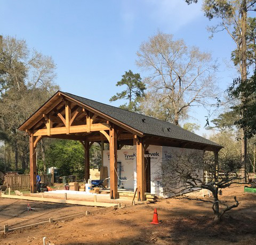
[[[52,175],[41,175],[41,182],[52,186]],[[30,176],[29,174],[9,173],[4,175],[4,184],[11,187],[11,190],[29,191],[30,190]]]

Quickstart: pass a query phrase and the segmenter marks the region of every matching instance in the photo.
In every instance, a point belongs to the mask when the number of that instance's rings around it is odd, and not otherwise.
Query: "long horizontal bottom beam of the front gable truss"
[[[95,123],[91,125],[91,132],[101,131],[101,130],[109,130],[109,124],[107,123]],[[87,132],[87,125],[76,125],[69,127],[69,133],[84,133]],[[33,130],[34,136],[47,136],[47,129],[37,129]],[[60,128],[51,128],[51,135],[54,134],[66,134],[66,127]]]

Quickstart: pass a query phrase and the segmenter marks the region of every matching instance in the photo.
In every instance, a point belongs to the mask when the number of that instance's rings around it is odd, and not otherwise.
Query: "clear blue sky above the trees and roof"
[[[205,18],[198,2],[0,0],[0,34],[26,39],[30,48],[52,56],[61,90],[110,104],[109,98],[122,89],[115,84],[125,71],[145,75],[135,65],[136,52],[161,30],[212,52],[220,64],[216,82],[224,91],[236,77],[227,66],[235,46],[225,32],[209,39],[206,27],[215,22]],[[197,133],[205,133],[207,112],[196,108],[190,114],[196,118],[190,121],[201,125]]]

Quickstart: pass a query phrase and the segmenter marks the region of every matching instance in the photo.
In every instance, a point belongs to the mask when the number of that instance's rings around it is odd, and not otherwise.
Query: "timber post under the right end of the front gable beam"
[[[109,158],[110,158],[110,198],[117,199],[117,136],[116,129],[109,129]]]

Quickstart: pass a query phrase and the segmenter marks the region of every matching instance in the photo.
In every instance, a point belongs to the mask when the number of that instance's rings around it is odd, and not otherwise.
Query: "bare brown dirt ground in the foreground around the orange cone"
[[[240,186],[223,190],[221,199],[233,203],[235,195],[241,203],[227,212],[219,224],[213,223],[211,204],[172,198],[116,210],[92,210],[87,216],[2,234],[0,244],[39,245],[46,236],[46,241],[55,245],[256,245],[256,195],[244,193]],[[161,224],[150,224],[154,208]],[[69,210],[69,207],[65,209],[66,215]]]

